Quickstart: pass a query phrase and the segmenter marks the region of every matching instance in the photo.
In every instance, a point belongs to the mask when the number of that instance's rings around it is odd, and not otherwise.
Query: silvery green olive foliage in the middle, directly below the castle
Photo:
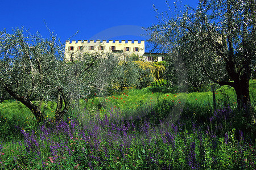
[[[94,61],[90,70],[84,73],[83,78],[87,91],[85,96],[97,94],[110,95],[114,91],[123,90],[125,87],[135,87],[138,83],[138,66],[133,61],[123,61],[113,53],[82,54],[76,63],[89,61],[86,56],[99,56]],[[81,62],[85,59],[84,62]]]

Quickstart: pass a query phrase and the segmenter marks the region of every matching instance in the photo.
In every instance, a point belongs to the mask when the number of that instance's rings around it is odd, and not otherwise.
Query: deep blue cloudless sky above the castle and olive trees
[[[30,28],[32,33],[39,31],[44,37],[49,33],[44,24],[60,37],[64,43],[77,31],[71,40],[111,39],[146,40],[141,37],[141,27],[157,23],[154,4],[159,11],[167,10],[165,0],[130,1],[55,1],[55,0],[15,0],[1,2],[0,29]],[[175,1],[169,1],[173,3]],[[196,0],[184,0],[184,5],[195,7]]]

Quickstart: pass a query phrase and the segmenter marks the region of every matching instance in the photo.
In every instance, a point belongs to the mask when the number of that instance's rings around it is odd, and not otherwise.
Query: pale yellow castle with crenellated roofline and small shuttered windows
[[[144,61],[163,61],[164,55],[158,53],[145,53],[144,41],[125,41],[125,40],[79,40],[65,42],[65,59],[70,61],[72,58],[82,53],[113,53],[120,59],[125,59],[125,56],[135,54]]]

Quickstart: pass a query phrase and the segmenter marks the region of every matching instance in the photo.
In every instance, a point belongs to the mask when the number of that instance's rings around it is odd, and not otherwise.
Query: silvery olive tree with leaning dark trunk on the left
[[[85,94],[84,83],[98,56],[79,63],[64,60],[64,45],[51,33],[44,39],[24,28],[0,32],[0,89],[24,104],[38,121],[45,118],[44,101],[56,102],[60,120],[75,100]]]

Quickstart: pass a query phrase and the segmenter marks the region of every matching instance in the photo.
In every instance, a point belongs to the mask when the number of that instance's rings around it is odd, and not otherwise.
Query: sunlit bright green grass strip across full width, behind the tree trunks
[[[221,105],[228,103],[230,107],[236,107],[236,93],[234,88],[229,86],[219,87],[216,91],[216,101],[220,108]],[[253,107],[256,107],[256,80],[250,80],[250,97]],[[212,105],[212,92],[193,92],[193,93],[159,93],[152,92],[150,88],[143,88],[142,90],[125,90],[121,94],[115,94],[112,96],[100,97],[94,95],[89,99],[80,100],[81,108],[85,107],[90,109],[91,112],[106,111],[110,108],[120,108],[120,109],[134,109],[143,104],[156,104],[160,100],[175,100],[179,103],[181,101],[187,101],[189,103],[198,105]],[[55,103],[44,103],[43,110],[46,112],[48,117],[54,117]],[[0,103],[0,113],[5,118],[12,118],[13,116],[19,116],[20,119],[23,117],[31,117],[31,113],[28,111],[24,105],[19,101],[3,101]]]

